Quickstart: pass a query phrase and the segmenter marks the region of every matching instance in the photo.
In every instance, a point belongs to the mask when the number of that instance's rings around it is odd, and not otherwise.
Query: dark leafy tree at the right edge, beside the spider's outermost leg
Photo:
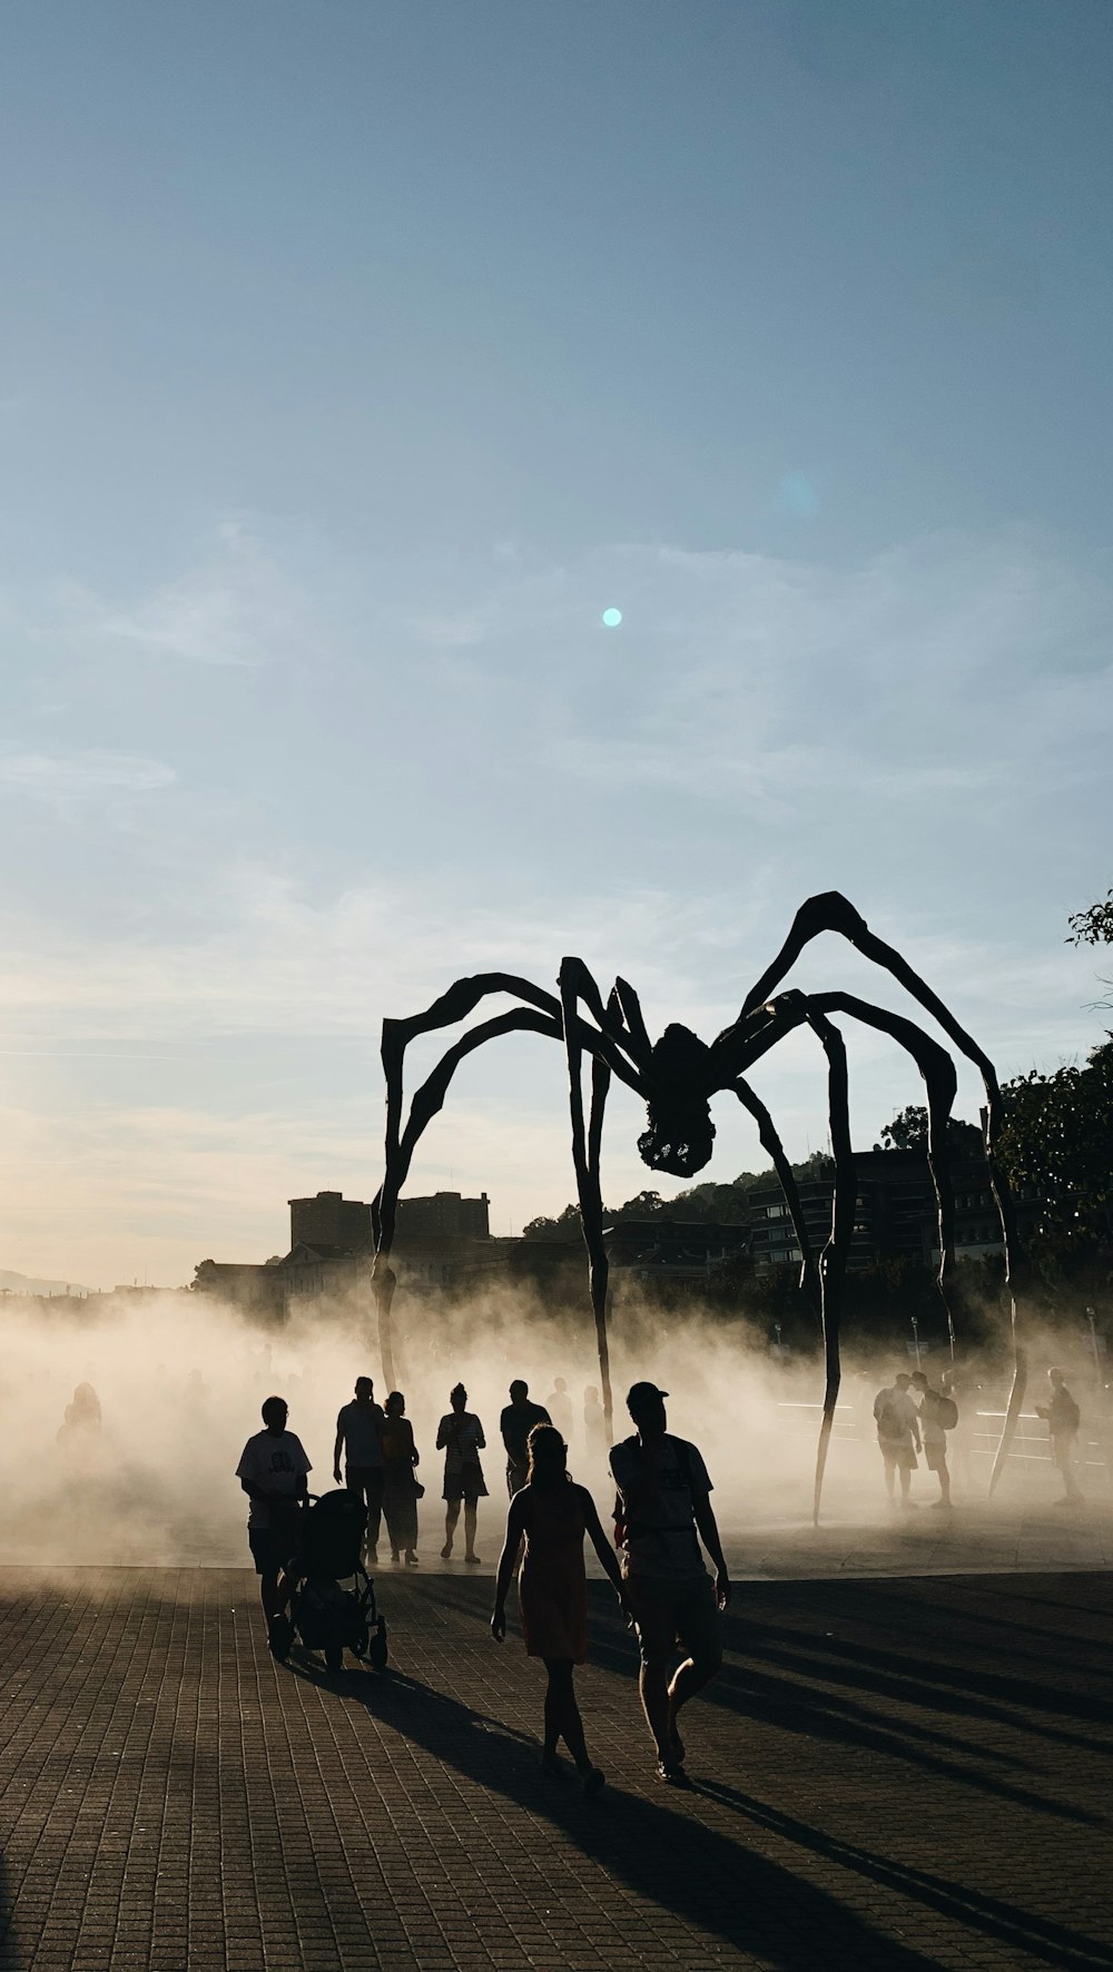
[[[1002,1092],[1001,1165],[1040,1203],[1036,1254],[1085,1260],[1113,1234],[1113,1035],[1083,1069],[1018,1075]]]

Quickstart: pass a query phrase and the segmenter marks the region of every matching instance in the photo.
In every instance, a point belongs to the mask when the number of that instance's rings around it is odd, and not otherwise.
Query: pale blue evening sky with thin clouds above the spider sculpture
[[[1103,0],[18,0],[2,41],[0,1266],[282,1252],[288,1197],[379,1183],[383,1016],[578,952],[708,1039],[821,889],[1002,1075],[1085,1057]],[[793,982],[900,1006],[833,937]],[[868,1146],[918,1077],[849,1045]],[[805,1037],[754,1081],[825,1146]],[[641,1126],[610,1203],[679,1189]],[[716,1126],[703,1175],[764,1165]],[[460,1071],[432,1189],[572,1197],[553,1043]]]

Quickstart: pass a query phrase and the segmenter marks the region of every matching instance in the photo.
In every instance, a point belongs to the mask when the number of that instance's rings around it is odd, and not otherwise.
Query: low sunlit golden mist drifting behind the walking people
[[[284,1325],[247,1321],[201,1294],[162,1294],[101,1303],[97,1315],[4,1309],[6,1384],[0,1398],[4,1497],[0,1558],[32,1564],[251,1566],[247,1499],[235,1479],[245,1440],[260,1430],[259,1408],[272,1392],[290,1404],[294,1430],[312,1459],[310,1489],[330,1491],[335,1414],[357,1374],[375,1378],[385,1398],[375,1315],[367,1307],[306,1303]],[[395,1302],[395,1374],[407,1396],[420,1451],[422,1566],[440,1566],[442,1455],[436,1426],[448,1392],[462,1380],[468,1408],[483,1422],[480,1552],[497,1558],[505,1522],[505,1455],[499,1410],[513,1376],[547,1402],[555,1378],[568,1386],[572,1430],[568,1467],[590,1487],[604,1524],[614,1489],[584,1445],[584,1388],[598,1388],[594,1331],[586,1315],[553,1313],[513,1294],[464,1303]],[[851,1345],[823,1497],[823,1526],[811,1528],[815,1440],[823,1396],[817,1355],[776,1357],[756,1331],[699,1307],[663,1311],[620,1300],[612,1325],[614,1436],[630,1432],[624,1392],[649,1376],[669,1392],[669,1430],[705,1453],[714,1509],[732,1568],[740,1574],[854,1572],[864,1566],[920,1570],[985,1566],[987,1540],[1006,1546],[1036,1538],[1034,1554],[1074,1566],[1103,1538],[1109,1509],[1107,1392],[1093,1353],[1087,1361],[1083,1311],[1032,1335],[1028,1396],[1018,1453],[987,1503],[995,1416],[1004,1408],[1010,1361],[1004,1333],[979,1357],[959,1357],[959,1430],[949,1457],[957,1511],[947,1550],[935,1554],[941,1514],[908,1514],[896,1526],[886,1507],[872,1400],[908,1355]],[[931,1380],[949,1359],[928,1353]],[[1032,1404],[1044,1398],[1050,1363],[1064,1367],[1083,1412],[1079,1477],[1091,1503],[1083,1526],[1056,1518],[1056,1473],[1046,1428]],[[75,1398],[79,1386],[87,1392]],[[69,1422],[67,1422],[69,1410]],[[935,1483],[922,1467],[918,1507],[929,1509]],[[1044,1511],[1046,1509],[1046,1511]],[[1032,1528],[1036,1536],[1032,1536]],[[1089,1542],[1089,1546],[1087,1546]],[[894,1546],[898,1544],[898,1546]],[[1079,1562],[1081,1564],[1081,1562]]]

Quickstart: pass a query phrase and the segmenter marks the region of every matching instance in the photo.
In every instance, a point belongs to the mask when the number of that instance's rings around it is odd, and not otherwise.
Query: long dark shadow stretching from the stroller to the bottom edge
[[[357,1700],[377,1724],[393,1726],[446,1767],[545,1816],[602,1871],[602,1895],[612,1875],[649,1903],[783,1972],[799,1972],[809,1950],[821,1954],[815,1962],[935,1972],[937,1960],[710,1828],[699,1816],[695,1791],[677,1796],[675,1808],[618,1789],[586,1802],[574,1783],[541,1771],[535,1743],[527,1749],[497,1720],[426,1684],[363,1670],[328,1676],[308,1662],[292,1662],[290,1670]]]

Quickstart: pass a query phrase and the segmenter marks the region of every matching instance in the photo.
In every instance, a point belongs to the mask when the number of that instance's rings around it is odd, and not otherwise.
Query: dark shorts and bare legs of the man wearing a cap
[[[695,1582],[657,1582],[630,1576],[626,1593],[641,1647],[639,1692],[645,1724],[657,1747],[659,1773],[665,1781],[683,1779],[685,1743],[677,1716],[689,1698],[722,1668],[722,1639],[714,1585],[708,1576]],[[685,1653],[669,1678],[669,1666]]]

